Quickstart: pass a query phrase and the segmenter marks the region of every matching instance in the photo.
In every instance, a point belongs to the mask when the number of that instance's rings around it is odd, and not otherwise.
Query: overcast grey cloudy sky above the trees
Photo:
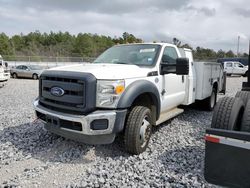
[[[0,32],[97,33],[127,31],[144,41],[177,37],[193,47],[248,52],[247,0],[0,0]]]

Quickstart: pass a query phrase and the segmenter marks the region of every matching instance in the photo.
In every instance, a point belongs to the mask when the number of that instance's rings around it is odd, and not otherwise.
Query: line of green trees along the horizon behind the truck
[[[40,33],[39,31],[29,34],[7,36],[0,33],[0,54],[6,60],[15,60],[18,56],[46,56],[46,57],[97,57],[107,48],[115,44],[141,43],[142,39],[133,34],[124,32],[122,36],[110,37],[104,35],[79,33],[71,35],[69,32]],[[222,57],[235,57],[232,50],[214,51],[213,49],[196,47],[189,44],[181,44],[177,38],[173,43],[179,47],[193,50],[195,59],[217,59]],[[247,56],[247,54],[241,54]]]

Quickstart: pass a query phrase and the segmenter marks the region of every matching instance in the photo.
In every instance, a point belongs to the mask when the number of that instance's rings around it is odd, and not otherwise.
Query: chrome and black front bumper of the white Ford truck
[[[35,100],[37,118],[55,134],[87,144],[109,144],[124,127],[127,110],[97,110],[87,115],[53,111]]]

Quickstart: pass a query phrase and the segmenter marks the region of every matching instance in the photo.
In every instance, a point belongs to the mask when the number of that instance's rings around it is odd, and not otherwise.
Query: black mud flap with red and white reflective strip
[[[250,134],[206,130],[205,179],[228,187],[250,187]]]

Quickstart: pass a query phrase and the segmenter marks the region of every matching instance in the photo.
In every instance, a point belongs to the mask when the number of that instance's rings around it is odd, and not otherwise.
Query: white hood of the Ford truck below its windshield
[[[91,73],[97,79],[107,80],[146,77],[152,71],[151,68],[137,65],[90,63],[56,67],[49,70]]]

